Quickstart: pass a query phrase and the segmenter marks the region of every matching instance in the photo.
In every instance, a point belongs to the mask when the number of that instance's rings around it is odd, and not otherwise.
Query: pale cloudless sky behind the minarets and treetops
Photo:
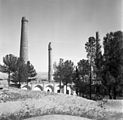
[[[98,31],[121,30],[122,0],[0,0],[0,64],[6,54],[19,56],[21,18],[28,20],[29,60],[48,71],[48,43],[53,63],[75,64],[86,58],[85,43]]]

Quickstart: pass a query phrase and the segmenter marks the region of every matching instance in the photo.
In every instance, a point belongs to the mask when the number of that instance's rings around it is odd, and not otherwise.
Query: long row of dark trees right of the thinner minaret
[[[101,48],[98,32],[85,44],[87,60],[77,66],[60,59],[55,64],[54,80],[63,85],[74,83],[77,95],[93,99],[108,95],[110,99],[123,95],[123,32],[107,33]],[[103,50],[103,53],[102,53]],[[67,88],[67,87],[66,87]]]

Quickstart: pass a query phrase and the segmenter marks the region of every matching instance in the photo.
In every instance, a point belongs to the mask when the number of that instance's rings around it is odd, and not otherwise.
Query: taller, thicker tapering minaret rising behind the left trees
[[[28,20],[22,17],[21,20],[21,41],[20,41],[20,59],[25,63],[28,61],[28,36],[27,36]]]

